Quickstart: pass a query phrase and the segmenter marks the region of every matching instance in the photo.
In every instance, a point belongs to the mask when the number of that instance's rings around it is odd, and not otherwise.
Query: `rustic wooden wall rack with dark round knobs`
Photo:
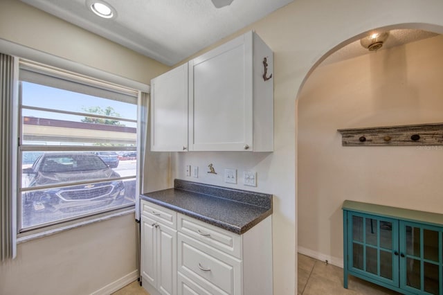
[[[443,123],[338,129],[343,146],[443,145]]]

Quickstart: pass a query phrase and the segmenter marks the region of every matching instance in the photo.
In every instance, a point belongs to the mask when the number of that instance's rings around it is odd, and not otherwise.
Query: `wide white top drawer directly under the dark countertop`
[[[178,224],[178,229],[182,233],[186,233],[186,235],[232,256],[242,257],[242,238],[240,235],[182,214],[178,215]]]

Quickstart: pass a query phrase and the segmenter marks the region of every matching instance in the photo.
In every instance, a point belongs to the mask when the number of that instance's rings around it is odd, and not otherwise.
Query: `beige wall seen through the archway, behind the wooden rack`
[[[345,199],[443,213],[443,147],[343,147],[339,128],[441,123],[443,36],[319,66],[298,101],[298,245],[343,265]]]

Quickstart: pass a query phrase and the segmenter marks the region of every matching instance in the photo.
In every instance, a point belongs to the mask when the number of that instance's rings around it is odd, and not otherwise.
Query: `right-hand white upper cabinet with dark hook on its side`
[[[273,53],[248,32],[189,62],[189,149],[273,150]]]

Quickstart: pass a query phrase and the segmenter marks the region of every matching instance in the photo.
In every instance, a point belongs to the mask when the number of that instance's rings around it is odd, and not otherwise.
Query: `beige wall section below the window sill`
[[[0,267],[2,295],[91,294],[135,271],[134,215],[24,242]]]

